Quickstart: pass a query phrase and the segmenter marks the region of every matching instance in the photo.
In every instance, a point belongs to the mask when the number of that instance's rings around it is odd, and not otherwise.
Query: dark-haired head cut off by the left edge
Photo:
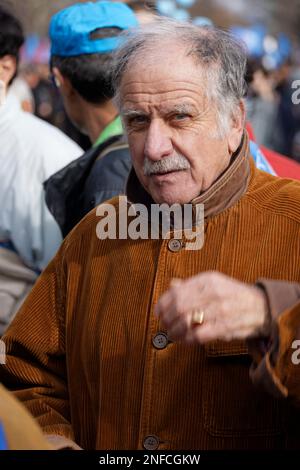
[[[8,87],[17,74],[24,34],[19,20],[0,5],[0,80]]]

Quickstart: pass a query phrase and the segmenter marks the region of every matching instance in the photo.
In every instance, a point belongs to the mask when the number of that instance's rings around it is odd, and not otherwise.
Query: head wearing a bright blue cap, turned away
[[[86,2],[56,13],[50,22],[50,67],[66,111],[81,126],[76,98],[101,105],[113,96],[111,69],[120,34],[137,25],[132,10],[118,2]]]

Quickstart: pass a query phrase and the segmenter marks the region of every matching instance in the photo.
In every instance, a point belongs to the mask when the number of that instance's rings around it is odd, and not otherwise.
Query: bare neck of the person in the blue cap
[[[87,103],[83,110],[85,129],[94,144],[105,127],[118,115],[117,109],[111,101],[102,105]]]

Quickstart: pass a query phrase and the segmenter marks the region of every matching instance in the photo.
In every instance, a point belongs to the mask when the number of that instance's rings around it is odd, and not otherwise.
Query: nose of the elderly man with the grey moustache
[[[149,160],[160,160],[173,152],[173,144],[170,129],[160,119],[151,122],[144,148],[145,157]]]

